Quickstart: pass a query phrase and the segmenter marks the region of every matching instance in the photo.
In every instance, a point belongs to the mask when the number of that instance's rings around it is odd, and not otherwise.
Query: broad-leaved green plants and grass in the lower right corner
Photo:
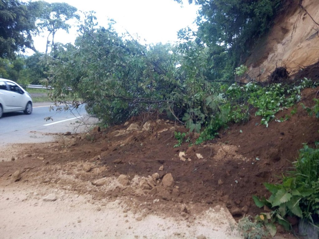
[[[264,183],[271,192],[269,199],[253,196],[258,207],[273,209],[265,214],[270,222],[278,222],[286,230],[290,228],[286,216],[307,218],[312,222],[319,216],[319,149],[304,145],[294,169],[288,172],[289,176],[282,177],[282,184]]]

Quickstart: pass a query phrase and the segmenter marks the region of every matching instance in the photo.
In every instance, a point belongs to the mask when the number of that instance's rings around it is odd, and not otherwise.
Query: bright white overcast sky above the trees
[[[141,43],[156,44],[159,42],[174,43],[177,32],[187,26],[196,30],[194,21],[197,17],[198,6],[188,4],[185,0],[183,7],[174,0],[45,0],[48,3],[65,2],[75,6],[79,11],[95,11],[100,26],[108,27],[108,18],[116,21],[114,25],[118,33],[127,30],[132,36],[138,35]],[[58,31],[55,42],[73,43],[77,28],[70,33]],[[34,37],[34,46],[40,52],[45,52],[48,33]],[[146,41],[144,41],[144,39]]]

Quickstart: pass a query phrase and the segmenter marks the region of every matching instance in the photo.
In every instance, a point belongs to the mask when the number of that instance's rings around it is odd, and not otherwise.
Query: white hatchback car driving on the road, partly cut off
[[[19,84],[0,78],[0,118],[3,113],[24,111],[32,113],[32,98]]]

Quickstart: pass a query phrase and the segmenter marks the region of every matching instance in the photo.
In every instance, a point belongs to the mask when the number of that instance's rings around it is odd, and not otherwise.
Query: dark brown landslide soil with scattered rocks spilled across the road
[[[318,90],[303,91],[300,103],[311,106]],[[0,163],[0,185],[10,185],[11,174],[20,170],[15,184],[43,185],[99,200],[127,198],[127,204],[134,198],[143,214],[182,215],[191,222],[189,214],[221,205],[236,220],[254,216],[263,209],[255,206],[252,195],[269,196],[263,183],[280,182],[278,176],[291,170],[302,144],[314,146],[319,140],[318,119],[309,117],[300,103],[293,115],[291,109],[278,113],[278,118],[290,116],[285,122],[272,121],[266,128],[252,113],[249,122],[229,125],[201,145],[183,142],[174,148],[174,131],[186,130],[160,115],[134,117],[124,125],[84,134],[59,134],[50,143],[15,145],[6,152],[15,160]],[[190,141],[196,136],[191,134]],[[185,156],[180,157],[181,152]],[[105,181],[96,186],[101,178]],[[189,209],[181,214],[176,205]]]

